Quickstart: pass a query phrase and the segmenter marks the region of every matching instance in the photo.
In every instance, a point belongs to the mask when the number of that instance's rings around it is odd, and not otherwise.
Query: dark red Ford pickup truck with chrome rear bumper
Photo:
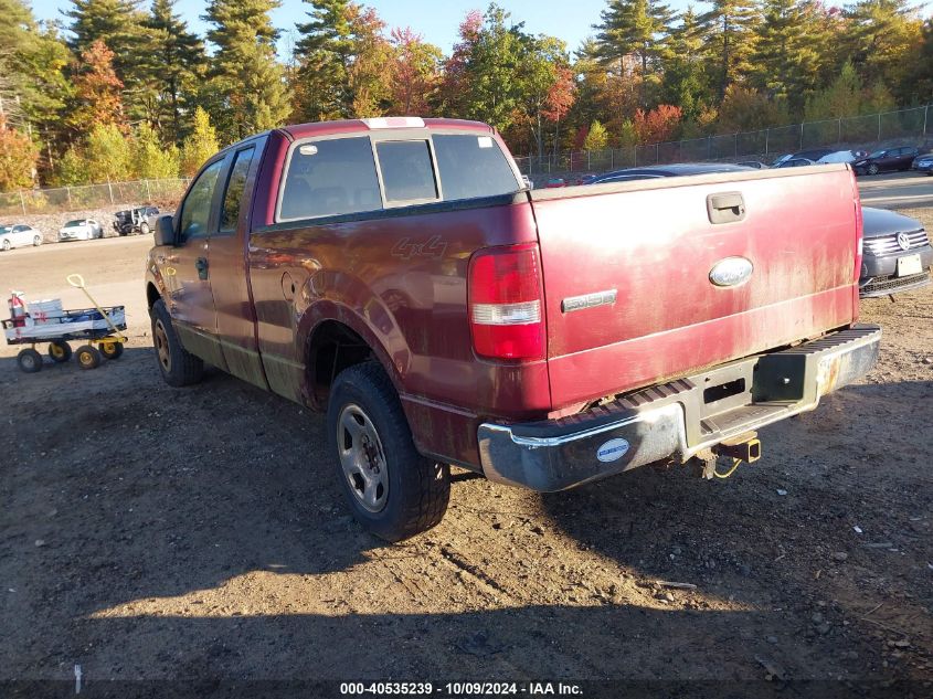
[[[450,464],[550,491],[756,458],[876,362],[860,212],[845,165],[530,191],[484,124],[290,126],[158,221],[153,341],[172,385],[208,362],[326,412],[354,516],[400,540]]]

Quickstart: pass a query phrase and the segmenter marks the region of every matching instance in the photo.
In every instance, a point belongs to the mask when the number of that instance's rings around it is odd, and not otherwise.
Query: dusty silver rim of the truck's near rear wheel
[[[337,419],[337,451],[340,466],[357,501],[370,512],[379,512],[389,498],[389,468],[375,425],[349,403]]]

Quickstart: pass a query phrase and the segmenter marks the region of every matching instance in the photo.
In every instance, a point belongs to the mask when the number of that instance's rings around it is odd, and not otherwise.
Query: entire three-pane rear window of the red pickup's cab
[[[481,134],[390,133],[300,140],[279,190],[279,222],[511,194],[519,181]]]

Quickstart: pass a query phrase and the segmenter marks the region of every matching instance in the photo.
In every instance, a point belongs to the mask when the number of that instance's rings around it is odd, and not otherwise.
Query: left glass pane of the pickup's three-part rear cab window
[[[285,174],[279,221],[382,209],[368,136],[295,147]]]

